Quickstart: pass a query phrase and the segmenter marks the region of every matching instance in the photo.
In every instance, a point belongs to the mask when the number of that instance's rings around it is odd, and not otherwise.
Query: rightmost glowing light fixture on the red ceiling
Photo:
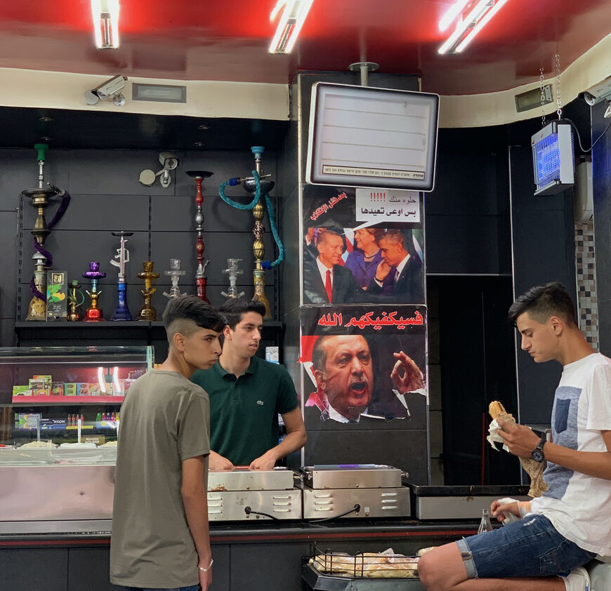
[[[438,49],[438,53],[460,53],[471,43],[487,22],[501,9],[507,0],[475,0],[463,12],[467,2],[457,0],[456,4],[442,16],[439,27],[446,29],[458,17],[456,28]],[[442,29],[442,30],[444,30]]]

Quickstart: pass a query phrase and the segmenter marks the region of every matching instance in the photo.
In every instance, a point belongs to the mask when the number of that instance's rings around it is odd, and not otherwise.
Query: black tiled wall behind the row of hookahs
[[[128,304],[135,317],[143,298],[140,289],[143,280],[137,274],[144,260],[152,258],[155,271],[161,277],[153,282],[157,292],[152,305],[158,316],[166,304],[162,295],[171,285],[164,270],[169,268],[170,258],[180,258],[187,273],[180,286],[187,293],[195,293],[195,180],[186,174],[189,170],[207,170],[213,176],[204,180],[204,257],[210,260],[206,267],[208,286],[206,295],[211,303],[220,305],[221,295],[229,286],[228,277],[222,273],[227,258],[242,258],[244,273],[237,284],[249,297],[254,293],[252,268],[254,255],[251,211],[242,211],[225,204],[218,196],[218,186],[223,180],[235,176],[249,176],[254,169],[254,157],[244,152],[178,152],[180,164],[171,172],[171,185],[164,189],[157,180],[152,187],[138,182],[140,171],[162,168],[159,152],[153,150],[48,150],[44,168],[45,179],[67,190],[72,201],[64,217],[47,237],[45,247],[53,255],[53,268],[67,270],[69,279],[79,279],[83,289],[90,282],[82,274],[88,262],[97,260],[100,269],[107,274],[100,281],[100,307],[105,319],[110,319],[117,303],[117,268],[110,265],[118,248],[118,239],[110,234],[114,230],[134,232],[128,238],[127,248],[131,260],[126,267]],[[0,253],[3,253],[0,284],[0,345],[11,346],[14,321],[22,321],[31,299],[29,280],[33,264],[32,235],[36,210],[20,192],[37,186],[38,166],[34,150],[2,150],[4,173],[0,175]],[[277,179],[276,154],[264,152],[263,172]],[[6,171],[10,170],[11,173]],[[252,196],[242,187],[228,187],[228,197],[247,204]],[[276,190],[271,192],[277,208]],[[55,197],[45,211],[46,222],[51,222],[59,206]],[[275,213],[277,220],[277,211]],[[22,220],[22,232],[18,222]],[[263,218],[265,234],[265,258],[277,256],[270,232],[268,216]],[[277,269],[265,274],[265,293],[270,300],[272,316],[278,317]],[[88,298],[81,312],[88,305]],[[92,327],[93,328],[93,327]],[[95,341],[92,333],[89,343]],[[107,343],[108,344],[108,343]],[[115,344],[119,344],[118,342]],[[159,359],[157,359],[159,361]]]

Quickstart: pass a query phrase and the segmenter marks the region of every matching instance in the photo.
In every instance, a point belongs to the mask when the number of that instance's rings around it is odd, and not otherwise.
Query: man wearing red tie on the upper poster
[[[303,301],[306,304],[363,301],[352,272],[339,264],[344,250],[341,234],[327,229],[318,235],[318,256],[303,263]]]

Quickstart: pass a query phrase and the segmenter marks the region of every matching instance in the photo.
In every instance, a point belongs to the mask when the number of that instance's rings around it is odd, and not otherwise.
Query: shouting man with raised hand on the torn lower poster
[[[374,408],[374,368],[367,340],[362,335],[319,337],[312,350],[317,392],[306,401],[306,423],[308,418],[311,426],[316,418],[356,424],[363,417],[374,420],[411,417],[407,394],[415,393],[419,401],[423,397],[426,402],[424,378],[405,352],[395,352],[393,357],[390,378],[394,395],[383,403],[383,408],[381,405]]]

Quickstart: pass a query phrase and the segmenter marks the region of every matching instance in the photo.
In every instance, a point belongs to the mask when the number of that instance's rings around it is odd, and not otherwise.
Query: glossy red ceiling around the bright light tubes
[[[121,48],[96,50],[89,0],[6,0],[0,67],[286,84],[297,69],[421,74],[440,94],[498,91],[562,69],[611,33],[610,0],[508,0],[461,55],[438,55],[451,0],[314,0],[292,55],[270,55],[275,0],[121,0]]]

